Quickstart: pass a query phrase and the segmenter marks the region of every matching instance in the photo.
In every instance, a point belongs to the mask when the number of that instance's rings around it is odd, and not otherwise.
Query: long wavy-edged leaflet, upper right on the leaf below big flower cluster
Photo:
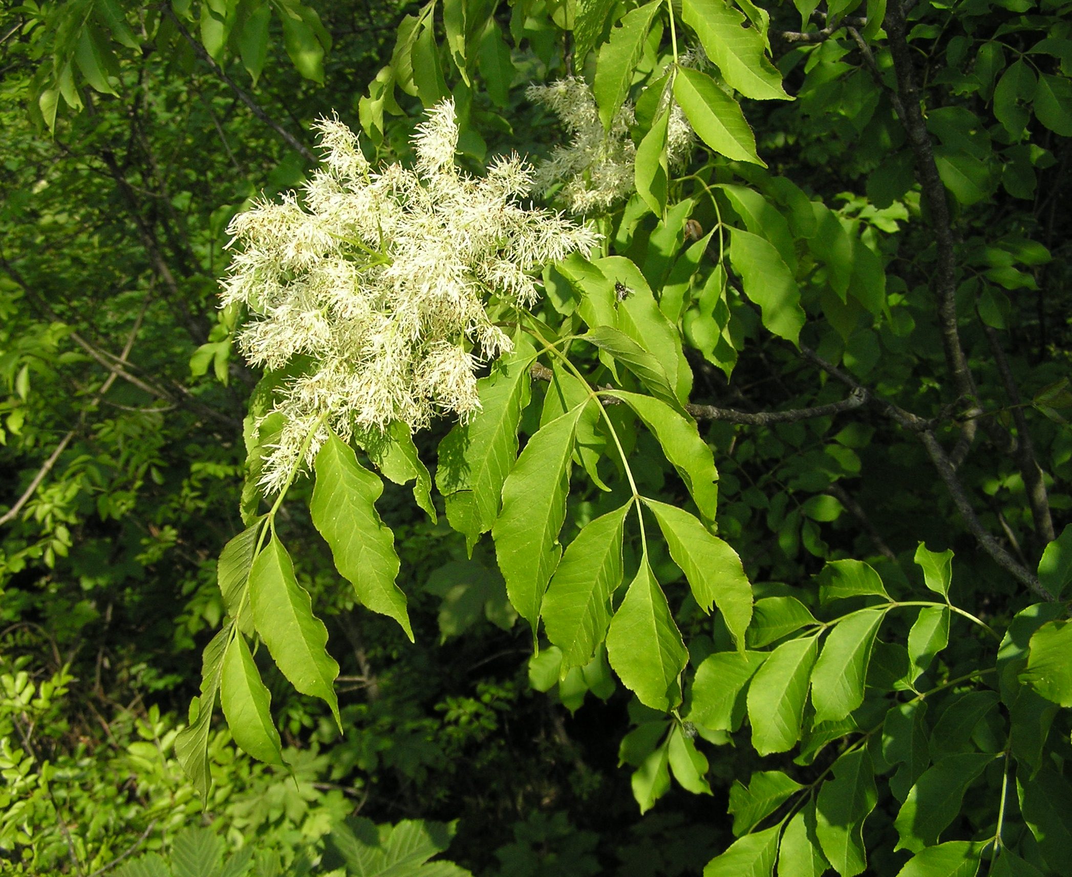
[[[394,619],[413,642],[405,594],[394,583],[400,566],[394,534],[375,506],[383,481],[358,463],[354,449],[334,434],[317,452],[314,467],[316,486],[309,510],[331,548],[336,568],[364,606]]]

